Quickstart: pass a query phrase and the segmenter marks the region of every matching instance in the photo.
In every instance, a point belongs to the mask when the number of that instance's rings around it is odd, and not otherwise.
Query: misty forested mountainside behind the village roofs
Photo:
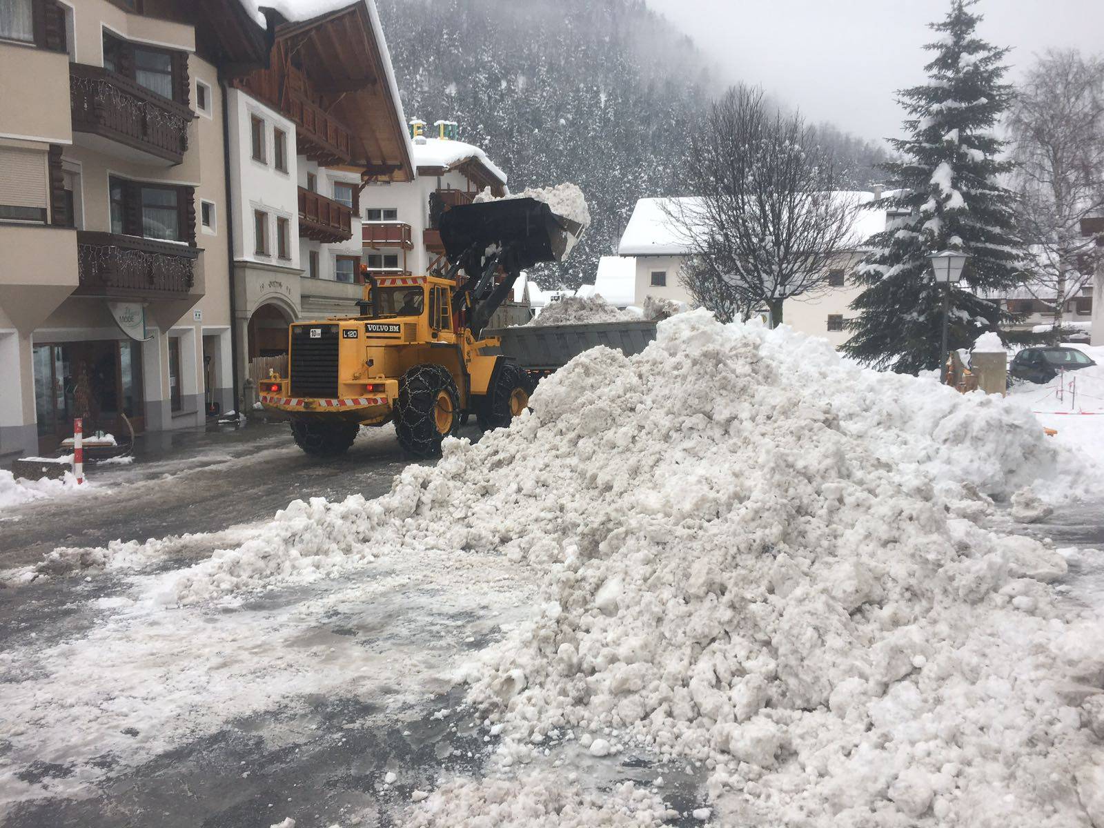
[[[677,195],[691,130],[719,88],[689,38],[643,0],[376,0],[407,118],[452,119],[513,191],[563,181],[593,223],[544,286],[591,282],[636,200]],[[872,145],[830,125],[852,185]]]

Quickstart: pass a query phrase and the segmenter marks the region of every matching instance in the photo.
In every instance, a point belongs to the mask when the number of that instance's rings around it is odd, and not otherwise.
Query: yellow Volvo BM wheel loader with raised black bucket
[[[480,333],[521,270],[562,259],[582,231],[535,199],[448,210],[449,267],[368,278],[358,314],[293,323],[289,375],[261,383],[262,405],[286,412],[295,442],[320,456],[343,453],[362,425],[394,422],[417,457],[438,454],[468,414],[484,428],[507,425],[529,404],[529,376]]]

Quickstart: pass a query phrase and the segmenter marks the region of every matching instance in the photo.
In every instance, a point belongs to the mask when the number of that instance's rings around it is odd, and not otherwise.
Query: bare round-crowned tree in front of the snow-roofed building
[[[761,89],[736,86],[713,103],[689,156],[697,198],[666,210],[700,259],[690,279],[704,279],[696,298],[711,310],[766,308],[778,325],[783,302],[825,288],[829,267],[862,241],[851,238],[857,204],[835,193],[830,152]]]

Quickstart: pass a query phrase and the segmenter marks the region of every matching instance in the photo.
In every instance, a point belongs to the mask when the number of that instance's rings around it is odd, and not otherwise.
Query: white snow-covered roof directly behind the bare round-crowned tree
[[[834,197],[858,208],[874,200],[872,192],[839,190]],[[682,256],[692,252],[692,236],[671,219],[671,214],[692,216],[701,204],[697,197],[640,199],[622,234],[617,252],[623,256]],[[856,210],[852,244],[862,246],[875,233],[885,230],[884,210]]]

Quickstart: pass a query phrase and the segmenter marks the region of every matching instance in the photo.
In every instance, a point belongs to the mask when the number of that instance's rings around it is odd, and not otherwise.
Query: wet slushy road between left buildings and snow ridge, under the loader
[[[479,431],[468,426],[461,436],[476,439]],[[365,429],[347,455],[320,461],[299,450],[286,423],[168,433],[136,454],[129,466],[91,466],[88,493],[0,513],[0,570],[35,563],[57,546],[265,520],[296,498],[379,497],[410,463],[390,427]]]

